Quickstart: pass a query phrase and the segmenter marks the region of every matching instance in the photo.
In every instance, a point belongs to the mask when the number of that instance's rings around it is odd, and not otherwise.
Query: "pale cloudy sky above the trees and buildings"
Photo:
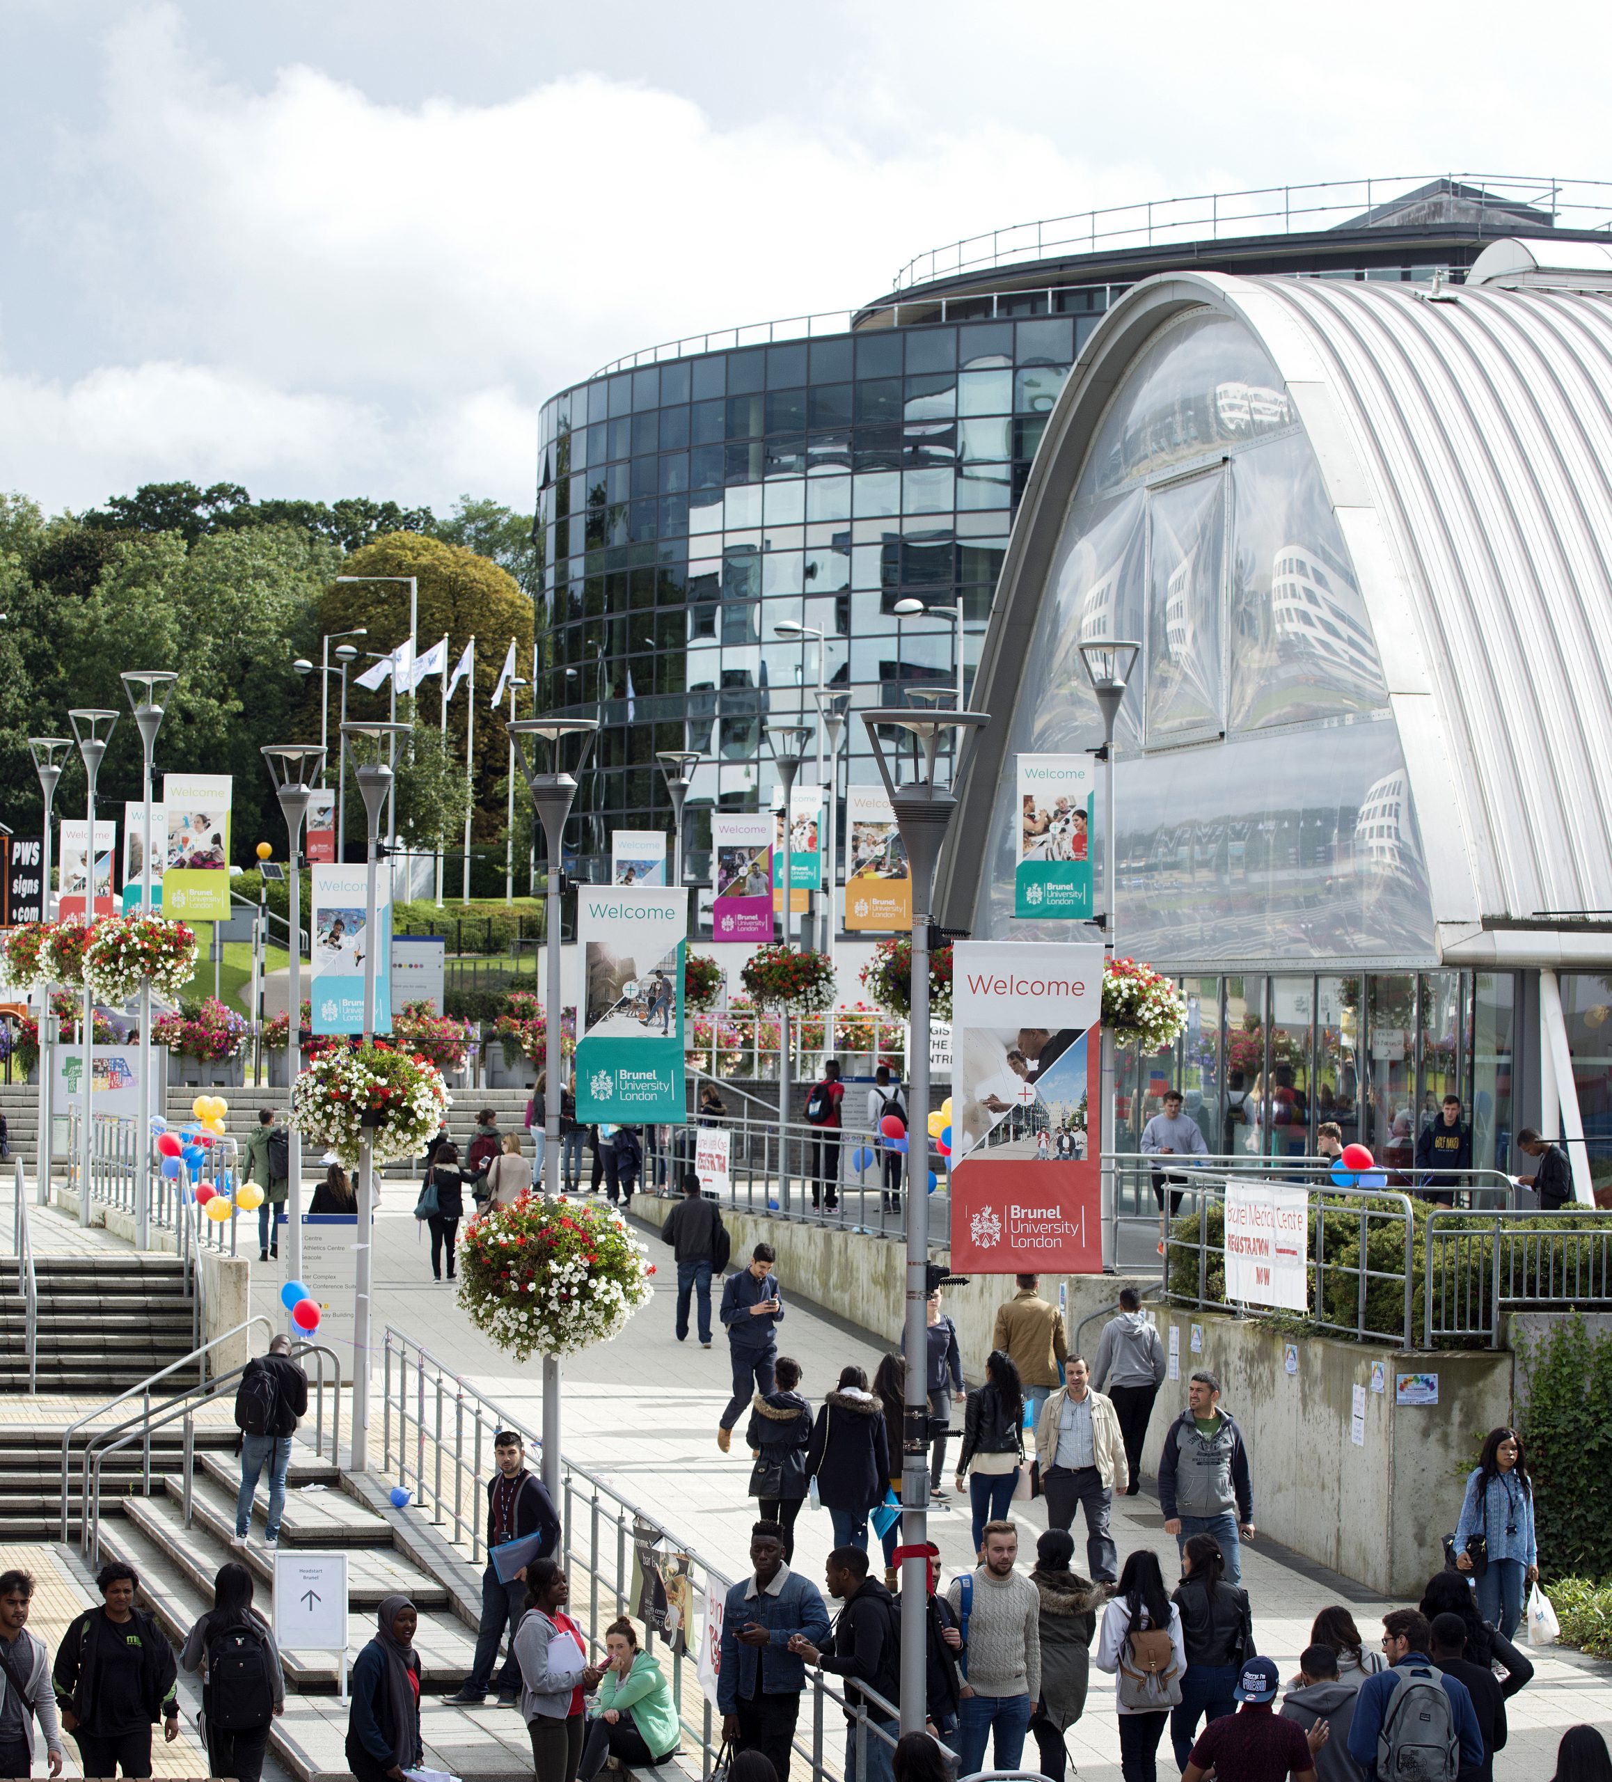
[[[1605,5],[0,0],[0,490],[529,508],[543,397],[958,235],[1612,178]],[[1612,198],[1612,189],[1608,189]]]

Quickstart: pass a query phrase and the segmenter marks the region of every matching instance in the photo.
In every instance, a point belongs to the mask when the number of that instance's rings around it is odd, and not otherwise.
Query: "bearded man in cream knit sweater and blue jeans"
[[[965,1682],[957,1709],[958,1775],[985,1768],[985,1741],[992,1741],[992,1768],[1017,1770],[1024,1753],[1030,1713],[1040,1698],[1040,1597],[1028,1577],[1014,1570],[1019,1529],[1012,1522],[985,1524],[985,1565],[951,1581],[946,1602],[957,1627],[946,1643],[960,1654]]]

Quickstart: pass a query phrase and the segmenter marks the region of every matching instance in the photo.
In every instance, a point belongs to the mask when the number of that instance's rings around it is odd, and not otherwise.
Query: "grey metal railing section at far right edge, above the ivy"
[[[1560,1212],[1436,1212],[1427,1221],[1423,1347],[1487,1338],[1523,1306],[1612,1304],[1612,1217]]]

